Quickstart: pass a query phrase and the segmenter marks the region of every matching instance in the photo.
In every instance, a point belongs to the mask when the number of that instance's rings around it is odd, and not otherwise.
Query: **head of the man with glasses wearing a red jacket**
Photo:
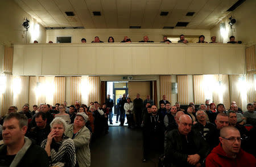
[[[228,156],[236,156],[241,147],[240,132],[233,126],[223,127],[220,130],[220,143]]]

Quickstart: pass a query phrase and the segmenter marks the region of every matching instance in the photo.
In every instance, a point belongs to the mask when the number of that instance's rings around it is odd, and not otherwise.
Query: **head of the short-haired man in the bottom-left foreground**
[[[26,131],[27,117],[19,113],[10,113],[3,122],[3,143],[9,146],[24,141]]]

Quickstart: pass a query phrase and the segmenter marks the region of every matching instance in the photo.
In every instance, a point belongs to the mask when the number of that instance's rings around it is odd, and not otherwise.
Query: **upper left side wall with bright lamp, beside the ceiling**
[[[20,8],[14,0],[1,1],[0,5],[0,44],[26,44],[26,30],[22,23],[23,19],[30,20],[30,28],[27,32],[27,43],[38,40],[38,42],[46,42],[46,29],[39,24],[39,36],[36,37],[34,25],[38,24],[35,19],[32,19],[26,11]],[[33,30],[34,29],[34,30]]]

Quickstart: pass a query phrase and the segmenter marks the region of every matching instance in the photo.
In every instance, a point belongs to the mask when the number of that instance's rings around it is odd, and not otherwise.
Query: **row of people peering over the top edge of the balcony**
[[[205,36],[204,35],[200,35],[199,36],[199,41],[196,43],[208,43],[207,41],[204,41]],[[210,40],[212,40],[209,43],[218,43],[216,42],[216,36],[212,36],[210,37]],[[92,43],[102,43],[104,41],[101,41],[100,38],[98,36],[94,37],[94,40],[92,41]],[[114,41],[114,37],[110,36],[108,38],[108,42],[115,42]],[[131,39],[127,36],[123,37],[123,40],[121,42],[131,42]],[[154,42],[154,41],[150,41],[148,36],[144,36],[142,41],[138,41],[138,42]],[[168,40],[167,36],[163,37],[163,41],[160,41],[161,43],[167,43],[167,44],[171,44],[172,42],[170,40]],[[53,43],[52,41],[48,42]],[[86,43],[86,39],[85,38],[81,38],[81,43]],[[183,44],[187,44],[188,41],[185,40],[185,36],[184,35],[180,35],[180,40],[178,41],[178,43],[183,43]],[[242,41],[235,41],[235,37],[234,36],[230,36],[229,37],[229,42],[227,42],[228,44],[242,44]],[[34,44],[38,44],[38,41],[34,41]]]

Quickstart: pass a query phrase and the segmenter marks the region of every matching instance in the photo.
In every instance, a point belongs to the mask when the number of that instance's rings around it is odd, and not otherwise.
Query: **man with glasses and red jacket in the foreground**
[[[241,136],[236,127],[223,127],[219,139],[220,144],[207,156],[206,166],[255,166],[255,157],[241,149]]]

